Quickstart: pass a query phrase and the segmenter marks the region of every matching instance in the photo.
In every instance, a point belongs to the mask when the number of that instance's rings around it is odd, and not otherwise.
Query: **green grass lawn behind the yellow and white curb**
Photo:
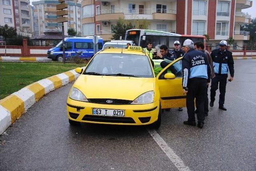
[[[38,80],[85,65],[70,62],[0,62],[0,99]]]

